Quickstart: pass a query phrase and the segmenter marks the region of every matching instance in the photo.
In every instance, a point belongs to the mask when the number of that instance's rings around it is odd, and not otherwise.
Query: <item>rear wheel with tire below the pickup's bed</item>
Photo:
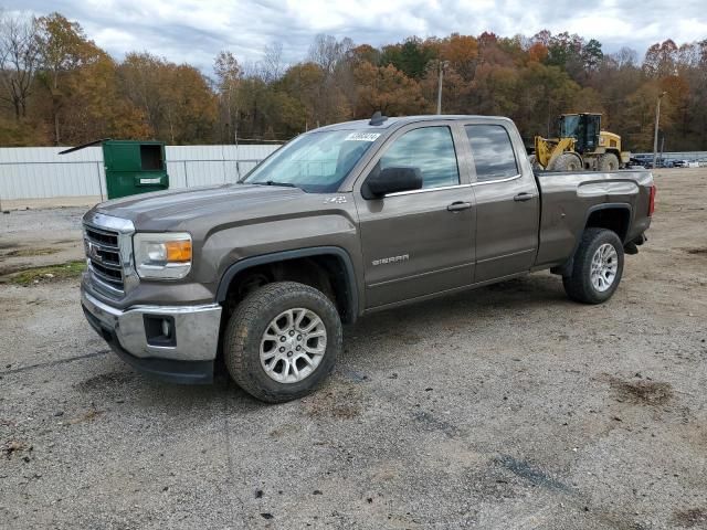
[[[604,261],[608,268],[602,268],[594,275],[595,265],[603,264]],[[615,232],[605,229],[587,229],[574,253],[571,274],[562,276],[567,296],[582,304],[606,301],[619,287],[623,274],[623,245]],[[609,274],[609,268],[613,268],[612,274]]]

